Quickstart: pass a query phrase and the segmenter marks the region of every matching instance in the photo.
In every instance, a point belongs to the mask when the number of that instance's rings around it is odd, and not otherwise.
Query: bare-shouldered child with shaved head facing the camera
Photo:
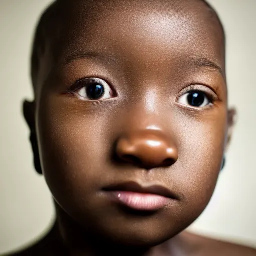
[[[16,255],[256,255],[183,231],[208,204],[235,111],[203,0],[57,0],[24,102],[56,224]]]

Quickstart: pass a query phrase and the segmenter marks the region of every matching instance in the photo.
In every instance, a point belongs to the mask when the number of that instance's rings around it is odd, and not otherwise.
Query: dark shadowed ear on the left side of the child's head
[[[36,138],[36,129],[35,129],[35,102],[34,101],[29,102],[25,100],[23,102],[23,115],[30,129],[30,143],[33,150],[34,167],[39,174],[42,174],[38,143]]]

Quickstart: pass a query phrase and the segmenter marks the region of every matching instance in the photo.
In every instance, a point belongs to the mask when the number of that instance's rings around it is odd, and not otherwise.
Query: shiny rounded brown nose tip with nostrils
[[[159,130],[137,131],[120,137],[116,154],[122,161],[146,169],[170,166],[178,158],[173,140]]]

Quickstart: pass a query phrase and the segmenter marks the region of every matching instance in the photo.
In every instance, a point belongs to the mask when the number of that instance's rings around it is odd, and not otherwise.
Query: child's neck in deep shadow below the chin
[[[86,231],[68,216],[55,202],[58,236],[68,251],[68,256],[102,256],[102,255],[132,255],[132,256],[175,256],[184,250],[184,242],[180,235],[154,247],[135,247],[120,245]],[[187,255],[182,253],[182,255]]]

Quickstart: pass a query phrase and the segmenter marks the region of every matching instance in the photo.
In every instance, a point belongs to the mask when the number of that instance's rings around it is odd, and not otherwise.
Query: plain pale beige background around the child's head
[[[33,170],[21,116],[22,99],[32,99],[32,34],[49,2],[0,0],[0,254],[35,242],[54,220],[48,188]],[[209,2],[226,29],[229,100],[239,115],[212,200],[190,229],[256,247],[256,0]]]

